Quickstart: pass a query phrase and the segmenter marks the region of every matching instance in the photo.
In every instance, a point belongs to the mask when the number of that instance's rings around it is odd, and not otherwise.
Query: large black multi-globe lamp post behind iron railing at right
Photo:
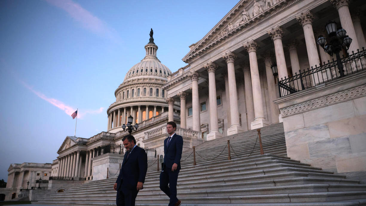
[[[333,54],[336,54],[337,59],[337,66],[339,70],[340,77],[344,76],[343,71],[343,64],[341,62],[341,57],[339,56],[339,52],[342,50],[342,46],[346,50],[350,48],[352,39],[351,37],[348,37],[346,35],[347,31],[344,30],[342,27],[339,29],[337,28],[336,22],[329,22],[325,25],[326,32],[328,33],[328,41],[329,43],[326,43],[326,38],[320,35],[317,40],[317,44],[320,45],[326,53],[328,53],[330,56]]]

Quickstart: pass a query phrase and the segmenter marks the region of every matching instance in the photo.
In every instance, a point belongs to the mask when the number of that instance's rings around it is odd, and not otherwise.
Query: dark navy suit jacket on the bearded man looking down
[[[128,158],[127,154],[128,152],[124,154],[122,166],[116,180],[117,190],[122,190],[123,188],[136,190],[137,182],[145,182],[147,172],[147,155],[145,150],[136,146]]]

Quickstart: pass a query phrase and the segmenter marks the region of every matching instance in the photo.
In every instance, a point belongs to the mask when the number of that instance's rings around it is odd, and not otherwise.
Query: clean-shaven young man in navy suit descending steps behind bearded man
[[[179,206],[181,201],[177,198],[177,179],[182,157],[183,138],[175,134],[177,124],[173,121],[167,123],[169,137],[164,140],[164,163],[160,173],[160,190],[170,198],[169,206]],[[169,186],[168,186],[169,184]]]

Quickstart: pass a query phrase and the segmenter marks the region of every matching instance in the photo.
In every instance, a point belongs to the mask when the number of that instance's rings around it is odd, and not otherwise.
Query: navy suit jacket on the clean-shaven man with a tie
[[[164,140],[164,165],[167,168],[172,168],[173,164],[178,165],[180,169],[180,158],[182,158],[183,138],[180,135],[174,134],[167,147],[168,139]]]

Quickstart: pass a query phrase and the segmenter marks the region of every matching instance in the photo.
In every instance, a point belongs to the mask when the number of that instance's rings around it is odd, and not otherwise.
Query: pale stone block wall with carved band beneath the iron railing
[[[366,183],[366,71],[275,103],[288,157]]]

